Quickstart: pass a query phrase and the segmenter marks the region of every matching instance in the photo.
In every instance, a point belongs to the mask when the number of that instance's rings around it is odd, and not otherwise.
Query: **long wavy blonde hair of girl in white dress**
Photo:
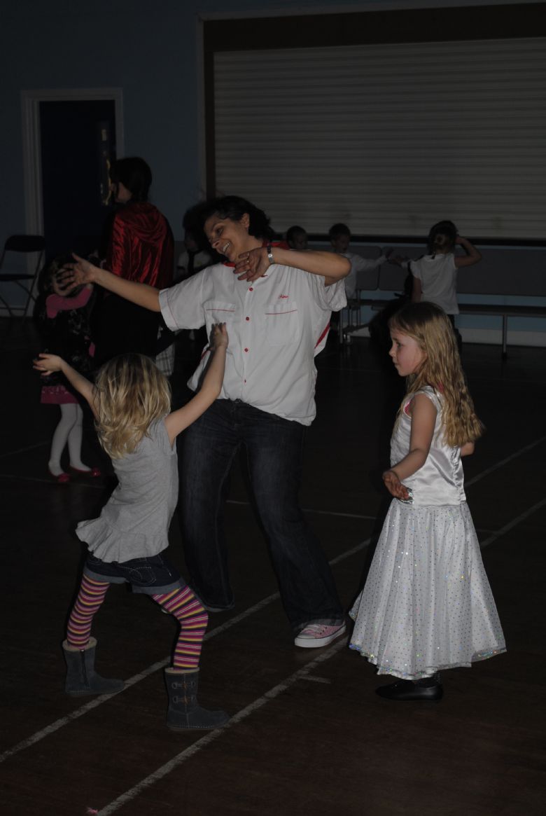
[[[443,397],[443,438],[451,447],[473,442],[483,433],[483,425],[474,411],[460,365],[455,332],[447,314],[436,304],[421,301],[406,304],[390,318],[391,331],[399,331],[416,340],[425,360],[407,377],[407,397],[429,385]],[[400,406],[400,413],[403,410]]]

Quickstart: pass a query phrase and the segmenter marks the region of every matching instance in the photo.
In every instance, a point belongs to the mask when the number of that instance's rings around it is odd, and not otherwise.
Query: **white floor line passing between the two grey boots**
[[[350,556],[354,555],[355,552],[359,552],[368,546],[369,539],[357,544],[355,547],[347,550],[346,552],[342,552],[341,555],[333,558],[330,561],[330,564],[337,564],[338,561],[343,561],[344,558],[349,558]],[[220,626],[211,629],[210,632],[205,634],[204,641],[209,641],[211,637],[216,637],[217,635],[221,635],[222,632],[226,632],[227,629],[231,629],[232,627],[236,626],[237,623],[240,623],[245,618],[249,618],[250,615],[253,615],[256,612],[259,612],[267,605],[271,604],[273,601],[278,601],[280,599],[279,592],[273,592],[271,595],[268,595],[265,598],[262,598],[262,601],[258,601],[258,603],[254,604],[253,606],[249,606],[249,609],[244,610],[240,614],[235,615],[233,618],[230,618],[226,621],[226,623],[222,623]],[[55,734],[55,731],[58,731],[60,728],[63,728],[64,725],[69,725],[73,720],[77,720],[78,717],[87,714],[88,712],[92,711],[94,708],[97,708],[102,703],[107,703],[108,700],[112,697],[116,697],[117,694],[122,694],[123,691],[126,689],[130,689],[132,685],[136,685],[141,680],[144,680],[146,677],[150,676],[154,672],[159,671],[161,668],[165,668],[170,663],[170,658],[165,658],[164,660],[160,660],[157,663],[153,663],[152,666],[148,666],[148,668],[144,669],[143,672],[139,672],[139,674],[135,674],[134,676],[130,677],[128,680],[125,680],[125,686],[120,691],[117,691],[115,694],[101,694],[99,697],[95,697],[90,700],[89,703],[86,705],[77,708],[75,711],[70,712],[64,717],[60,717],[59,720],[55,720],[52,722],[51,725],[46,725],[46,728],[43,728],[40,731],[37,731],[36,734],[33,734],[27,739],[22,740],[20,743],[17,743],[12,748],[8,748],[7,751],[4,751],[0,754],[0,763],[9,759],[10,756],[14,756],[21,751],[24,751],[25,748],[29,748],[36,743],[40,742],[41,739],[51,736],[51,734]]]

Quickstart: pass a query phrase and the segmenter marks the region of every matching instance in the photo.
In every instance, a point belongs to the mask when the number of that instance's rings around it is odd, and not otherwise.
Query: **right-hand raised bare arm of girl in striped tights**
[[[209,408],[222,391],[224,370],[226,367],[227,330],[225,323],[218,323],[213,326],[210,336],[211,356],[203,378],[203,383],[196,396],[185,406],[174,410],[172,414],[165,418],[165,428],[169,435],[170,444],[184,428],[191,425],[201,414]]]

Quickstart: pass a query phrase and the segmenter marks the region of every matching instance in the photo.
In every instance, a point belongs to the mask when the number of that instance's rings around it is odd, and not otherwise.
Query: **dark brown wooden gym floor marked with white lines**
[[[162,667],[174,621],[113,587],[95,621],[97,664],[123,677],[106,698],[64,694],[60,643],[83,551],[73,529],[112,486],[46,472],[55,406],[39,405],[32,324],[2,339],[2,744],[6,816],[533,816],[544,813],[546,348],[465,346],[487,435],[465,459],[467,494],[507,654],[443,673],[440,704],[377,698],[346,648],[293,646],[240,468],[226,524],[236,609],[211,615],[200,700],[231,724],[165,727]],[[178,381],[192,363],[179,344]],[[400,382],[367,341],[318,358],[302,507],[349,606],[385,512],[379,474]],[[86,424],[85,461],[107,467]],[[183,569],[176,523],[170,557]],[[388,681],[388,678],[382,678]],[[381,681],[380,681],[381,682]],[[542,803],[542,804],[541,804]]]

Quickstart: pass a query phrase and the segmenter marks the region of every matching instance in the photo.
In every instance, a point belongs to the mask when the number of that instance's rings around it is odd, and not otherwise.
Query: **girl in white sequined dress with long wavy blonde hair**
[[[407,377],[385,486],[394,496],[368,579],[350,611],[350,648],[400,678],[396,700],[439,700],[439,670],[505,651],[466,503],[461,456],[482,424],[465,384],[451,322],[435,304],[390,319],[390,357]]]

